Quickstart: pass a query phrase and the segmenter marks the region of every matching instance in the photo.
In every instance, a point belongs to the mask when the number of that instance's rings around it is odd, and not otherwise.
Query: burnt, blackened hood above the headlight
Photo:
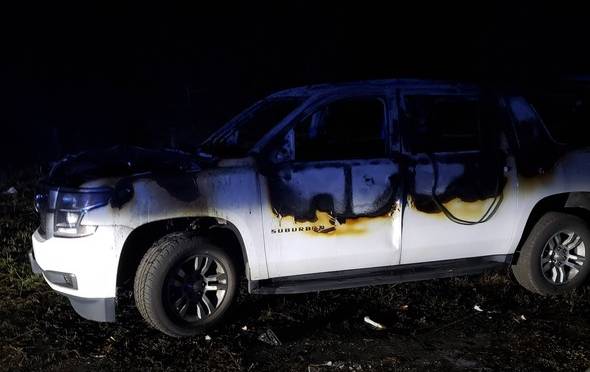
[[[197,160],[192,154],[176,150],[114,146],[66,156],[53,166],[46,182],[53,186],[79,187],[101,178],[175,175],[199,170]]]

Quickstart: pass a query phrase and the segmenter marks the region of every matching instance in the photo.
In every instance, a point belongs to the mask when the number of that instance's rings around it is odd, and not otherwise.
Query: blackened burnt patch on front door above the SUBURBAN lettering
[[[273,212],[315,221],[317,212],[336,219],[377,217],[395,204],[399,169],[390,160],[286,165],[269,177]]]

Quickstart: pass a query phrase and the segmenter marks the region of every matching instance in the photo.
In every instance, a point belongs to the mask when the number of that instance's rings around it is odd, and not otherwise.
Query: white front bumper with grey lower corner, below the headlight
[[[115,321],[117,268],[128,231],[101,226],[81,238],[45,239],[35,231],[29,260],[33,272],[70,300],[82,317]]]

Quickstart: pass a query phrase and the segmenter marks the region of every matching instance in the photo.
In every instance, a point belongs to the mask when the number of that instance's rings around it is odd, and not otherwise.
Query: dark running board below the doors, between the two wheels
[[[249,283],[251,293],[289,294],[366,287],[381,284],[474,275],[490,269],[505,268],[512,255],[495,255],[418,264],[332,271],[320,274],[283,276]]]

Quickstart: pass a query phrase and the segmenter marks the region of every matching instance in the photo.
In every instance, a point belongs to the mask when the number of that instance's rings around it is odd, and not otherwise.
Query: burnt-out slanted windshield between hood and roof
[[[248,151],[275,125],[303,102],[302,97],[262,100],[240,114],[202,145],[203,151],[229,157]]]

